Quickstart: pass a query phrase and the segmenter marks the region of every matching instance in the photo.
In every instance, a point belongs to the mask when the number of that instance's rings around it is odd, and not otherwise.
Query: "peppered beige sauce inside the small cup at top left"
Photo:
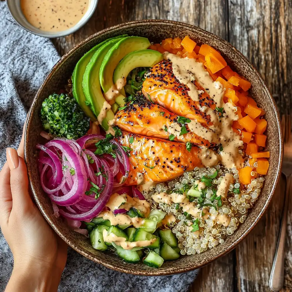
[[[21,0],[27,21],[46,32],[60,32],[76,25],[88,10],[90,0]]]

